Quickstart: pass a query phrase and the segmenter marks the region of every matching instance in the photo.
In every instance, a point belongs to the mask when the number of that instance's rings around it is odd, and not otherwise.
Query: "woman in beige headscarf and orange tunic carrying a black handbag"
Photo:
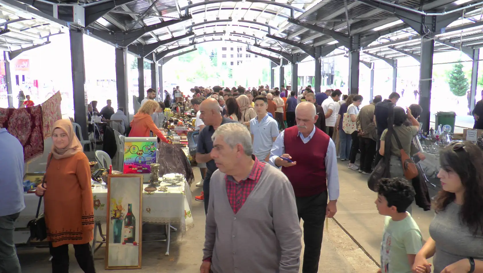
[[[85,273],[95,273],[89,242],[93,239],[94,201],[89,160],[69,120],[54,123],[52,152],[45,184],[37,187],[44,196],[45,224],[52,255],[52,273],[69,272],[69,244]]]

